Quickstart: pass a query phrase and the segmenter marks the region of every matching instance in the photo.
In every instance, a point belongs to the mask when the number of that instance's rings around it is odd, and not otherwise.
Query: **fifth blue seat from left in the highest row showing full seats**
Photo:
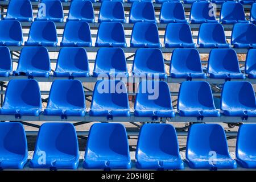
[[[129,23],[153,22],[156,23],[155,9],[151,2],[135,1],[131,5]]]

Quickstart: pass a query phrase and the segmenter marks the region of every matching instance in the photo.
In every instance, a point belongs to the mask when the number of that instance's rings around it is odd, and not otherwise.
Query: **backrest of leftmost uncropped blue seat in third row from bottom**
[[[51,71],[49,53],[46,47],[24,47],[20,52],[18,71]]]

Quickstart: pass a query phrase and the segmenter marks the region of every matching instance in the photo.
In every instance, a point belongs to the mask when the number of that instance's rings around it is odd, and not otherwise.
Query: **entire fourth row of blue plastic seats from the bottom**
[[[23,34],[16,20],[0,21],[0,45],[22,46]],[[200,26],[197,44],[202,48],[230,48],[224,28],[219,23],[203,23]],[[256,26],[251,23],[234,24],[231,44],[235,48],[256,48]],[[57,46],[54,22],[36,21],[30,28],[25,46]],[[67,22],[60,46],[91,47],[92,38],[87,22]],[[98,29],[96,47],[127,47],[122,23],[102,22]],[[134,24],[130,47],[160,48],[158,27],[155,23]],[[191,28],[188,23],[169,23],[164,36],[164,46],[171,48],[193,48]]]

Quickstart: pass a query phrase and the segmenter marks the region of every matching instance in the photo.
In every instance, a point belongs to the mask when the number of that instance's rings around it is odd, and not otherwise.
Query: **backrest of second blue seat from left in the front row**
[[[40,151],[45,151],[47,156],[60,154],[79,156],[77,135],[73,124],[43,123],[36,139],[34,156],[42,155]]]

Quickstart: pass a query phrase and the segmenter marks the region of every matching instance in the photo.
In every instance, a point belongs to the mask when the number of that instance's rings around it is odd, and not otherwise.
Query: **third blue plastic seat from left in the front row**
[[[84,168],[131,168],[127,134],[121,123],[95,123],[90,127]]]

